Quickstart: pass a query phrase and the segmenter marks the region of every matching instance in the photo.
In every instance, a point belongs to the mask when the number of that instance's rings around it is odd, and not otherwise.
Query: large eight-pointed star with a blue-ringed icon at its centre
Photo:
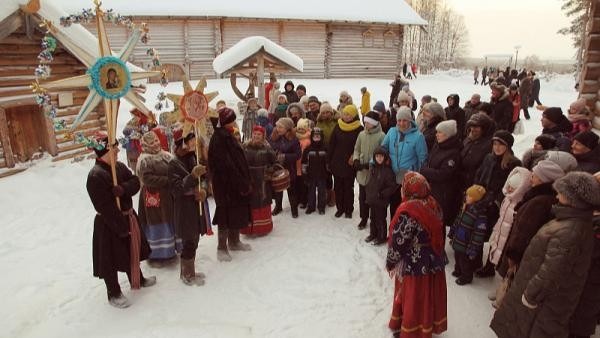
[[[134,30],[131,37],[129,37],[129,40],[127,40],[127,43],[125,43],[125,46],[123,46],[119,53],[113,55],[106,34],[106,28],[104,27],[104,12],[100,8],[101,2],[99,0],[94,0],[94,4],[96,5],[96,27],[98,31],[99,46],[98,54],[90,55],[87,51],[78,47],[77,44],[65,34],[56,29],[51,30],[57,39],[81,60],[86,67],[88,67],[87,74],[44,83],[42,86],[44,89],[88,87],[90,93],[81,106],[81,110],[77,114],[77,117],[73,121],[70,131],[74,131],[83,121],[85,121],[86,117],[94,110],[94,108],[96,108],[98,103],[100,103],[101,100],[104,100],[109,139],[110,142],[114,142],[119,99],[125,98],[145,115],[150,115],[150,110],[146,108],[132,90],[131,82],[157,76],[160,72],[130,72],[125,64],[139,41],[140,36],[145,29],[144,26],[142,26],[141,29]]]

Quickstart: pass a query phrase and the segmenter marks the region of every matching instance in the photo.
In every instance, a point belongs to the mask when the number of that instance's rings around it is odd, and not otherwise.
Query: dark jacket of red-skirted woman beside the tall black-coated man
[[[252,184],[250,207],[255,209],[271,205],[271,186],[270,182],[265,181],[265,171],[275,164],[275,152],[266,143],[260,145],[246,143],[243,148]]]

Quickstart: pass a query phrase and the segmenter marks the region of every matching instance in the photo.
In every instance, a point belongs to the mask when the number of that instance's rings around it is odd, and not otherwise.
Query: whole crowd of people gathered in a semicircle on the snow
[[[156,282],[141,275],[139,261],[146,258],[160,264],[180,254],[182,281],[202,285],[194,258],[211,223],[218,225],[218,260],[230,261],[229,250],[251,250],[240,233],[272,231],[283,190],[293,218],[301,209],[324,215],[332,208],[334,217],[350,220],[356,181],[357,228],[369,227],[366,242],[388,245],[394,335],[430,337],[447,329],[449,241],[458,285],[503,278],[490,290],[497,308],[491,327],[499,337],[589,337],[600,314],[600,146],[582,122],[591,114],[584,100],[571,104],[567,115],[538,105],[543,132],[519,159],[513,129],[521,110],[528,118],[521,102],[536,97],[516,100],[519,84],[515,90],[501,76],[490,79],[489,102],[474,94],[464,107],[457,94],[448,95],[446,107],[430,95],[418,105],[398,74],[387,108],[382,101],[370,108],[367,88],[360,107],[342,91],[334,108],[291,81],[280,91],[271,77],[265,106],[248,100],[241,135],[236,113],[224,102],[211,118],[210,139],[177,129],[169,149],[164,130],[149,128],[141,137],[137,176],[117,162],[114,186],[109,164],[118,148],[98,135],[104,147],[94,148],[98,159],[88,178],[98,212],[94,274],[118,307],[129,302],[115,285],[117,271],[132,283],[135,272],[137,286]],[[279,169],[289,175],[287,189],[273,189]],[[136,216],[131,197],[140,187]],[[137,237],[136,227],[142,230]]]

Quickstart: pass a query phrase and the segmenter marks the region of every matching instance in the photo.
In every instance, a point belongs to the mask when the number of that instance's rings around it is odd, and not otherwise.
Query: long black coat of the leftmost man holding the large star
[[[116,173],[117,183],[125,190],[125,194],[120,198],[121,210],[127,211],[133,208],[131,197],[140,190],[140,181],[121,162],[116,163]],[[86,188],[97,212],[92,237],[94,276],[105,278],[114,271],[129,272],[129,218],[117,207],[112,193],[110,165],[96,160],[88,174]],[[150,246],[141,229],[140,234],[140,260],[145,260],[150,255]]]

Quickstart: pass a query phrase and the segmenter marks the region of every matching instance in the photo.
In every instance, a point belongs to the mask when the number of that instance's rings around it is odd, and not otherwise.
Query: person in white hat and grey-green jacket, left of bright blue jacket
[[[363,125],[365,129],[358,134],[352,154],[352,167],[356,171],[356,181],[358,182],[359,230],[366,228],[369,220],[369,205],[366,203],[366,186],[371,176],[369,162],[373,158],[373,152],[381,145],[385,137],[379,125],[379,114],[376,112],[368,112],[363,117]]]

